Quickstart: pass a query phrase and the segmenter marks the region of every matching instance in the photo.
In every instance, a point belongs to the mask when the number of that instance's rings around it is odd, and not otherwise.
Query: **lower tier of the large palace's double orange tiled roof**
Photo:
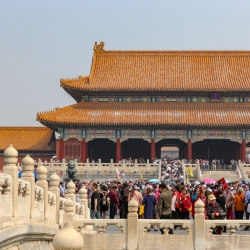
[[[80,102],[39,113],[37,120],[87,126],[249,126],[250,104]]]

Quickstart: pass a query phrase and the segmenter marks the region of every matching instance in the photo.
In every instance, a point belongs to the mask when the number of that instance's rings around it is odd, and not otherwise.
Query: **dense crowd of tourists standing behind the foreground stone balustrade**
[[[182,181],[166,185],[164,182],[149,183],[137,181],[107,181],[107,182],[78,182],[76,183],[76,200],[78,191],[87,189],[91,218],[121,218],[128,215],[128,203],[134,198],[138,203],[139,219],[194,219],[195,202],[198,199],[204,203],[204,218],[207,220],[249,219],[250,191],[246,183],[232,182],[227,184],[222,178],[216,184],[194,182],[184,184]],[[67,185],[60,184],[60,195],[67,192]],[[158,231],[154,226],[149,230]],[[180,229],[177,225],[175,230]],[[241,227],[240,230],[249,230]],[[226,232],[226,228],[217,227],[214,234]],[[161,231],[163,234],[164,231]],[[173,230],[169,230],[173,234]]]

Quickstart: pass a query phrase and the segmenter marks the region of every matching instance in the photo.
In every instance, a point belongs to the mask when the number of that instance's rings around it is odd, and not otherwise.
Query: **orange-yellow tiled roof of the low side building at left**
[[[0,150],[10,144],[16,150],[55,150],[55,143],[49,145],[53,133],[46,127],[0,127]]]

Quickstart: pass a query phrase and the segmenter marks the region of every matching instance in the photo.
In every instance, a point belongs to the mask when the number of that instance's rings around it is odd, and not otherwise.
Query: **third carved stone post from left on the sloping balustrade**
[[[39,161],[41,162],[41,161]],[[49,205],[49,198],[48,198],[48,182],[47,182],[47,168],[43,166],[43,164],[39,164],[37,167],[37,182],[36,185],[41,187],[43,189],[43,195],[44,195],[44,219],[48,219],[48,205]]]

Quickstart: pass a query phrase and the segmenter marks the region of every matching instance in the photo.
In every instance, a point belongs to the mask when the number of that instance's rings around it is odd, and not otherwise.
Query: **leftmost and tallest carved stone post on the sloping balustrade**
[[[18,214],[18,166],[17,164],[18,152],[13,148],[12,144],[4,151],[4,166],[3,173],[12,176],[12,205],[13,217]]]

